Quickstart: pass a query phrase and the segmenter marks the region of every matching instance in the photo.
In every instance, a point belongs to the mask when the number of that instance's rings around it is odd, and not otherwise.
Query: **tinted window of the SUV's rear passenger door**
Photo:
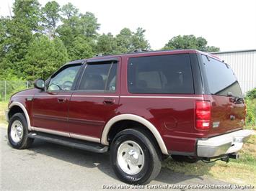
[[[97,62],[87,64],[79,90],[115,92],[117,63]]]

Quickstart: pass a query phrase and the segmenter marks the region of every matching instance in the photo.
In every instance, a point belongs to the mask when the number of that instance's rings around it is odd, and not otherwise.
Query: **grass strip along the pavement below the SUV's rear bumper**
[[[214,177],[226,182],[256,187],[256,135],[247,140],[239,154],[239,159],[230,159],[229,163],[218,161],[206,164],[200,161],[188,164],[175,162],[170,158],[163,162],[162,166],[175,172]]]

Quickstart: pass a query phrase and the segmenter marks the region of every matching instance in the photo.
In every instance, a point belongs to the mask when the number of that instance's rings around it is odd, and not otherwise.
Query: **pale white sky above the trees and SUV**
[[[99,33],[118,34],[128,27],[146,29],[151,48],[158,50],[177,35],[204,37],[221,51],[256,49],[256,0],[56,0],[90,11]],[[14,0],[2,0],[0,15],[9,15]],[[47,0],[39,0],[45,5]]]

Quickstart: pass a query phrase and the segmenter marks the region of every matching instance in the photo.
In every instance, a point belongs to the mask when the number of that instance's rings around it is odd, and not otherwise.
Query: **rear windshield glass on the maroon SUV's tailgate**
[[[231,67],[212,57],[202,55],[210,93],[213,95],[242,96],[242,90]]]

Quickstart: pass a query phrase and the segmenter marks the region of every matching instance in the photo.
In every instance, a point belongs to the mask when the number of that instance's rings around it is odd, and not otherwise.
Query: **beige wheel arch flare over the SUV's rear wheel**
[[[153,134],[154,138],[156,139],[157,144],[159,145],[159,148],[162,151],[162,154],[168,154],[167,147],[165,146],[162,136],[159,134],[159,131],[156,129],[156,127],[153,124],[151,124],[151,122],[146,120],[146,118],[143,118],[141,116],[137,116],[134,114],[120,114],[118,116],[111,118],[110,121],[107,122],[107,124],[105,125],[105,127],[103,129],[102,136],[100,139],[101,144],[104,144],[104,145],[109,144],[107,137],[110,132],[110,129],[112,129],[113,126],[116,123],[118,123],[119,121],[124,121],[124,120],[136,121],[139,124],[144,125],[146,127],[146,129],[151,131],[151,134]]]

